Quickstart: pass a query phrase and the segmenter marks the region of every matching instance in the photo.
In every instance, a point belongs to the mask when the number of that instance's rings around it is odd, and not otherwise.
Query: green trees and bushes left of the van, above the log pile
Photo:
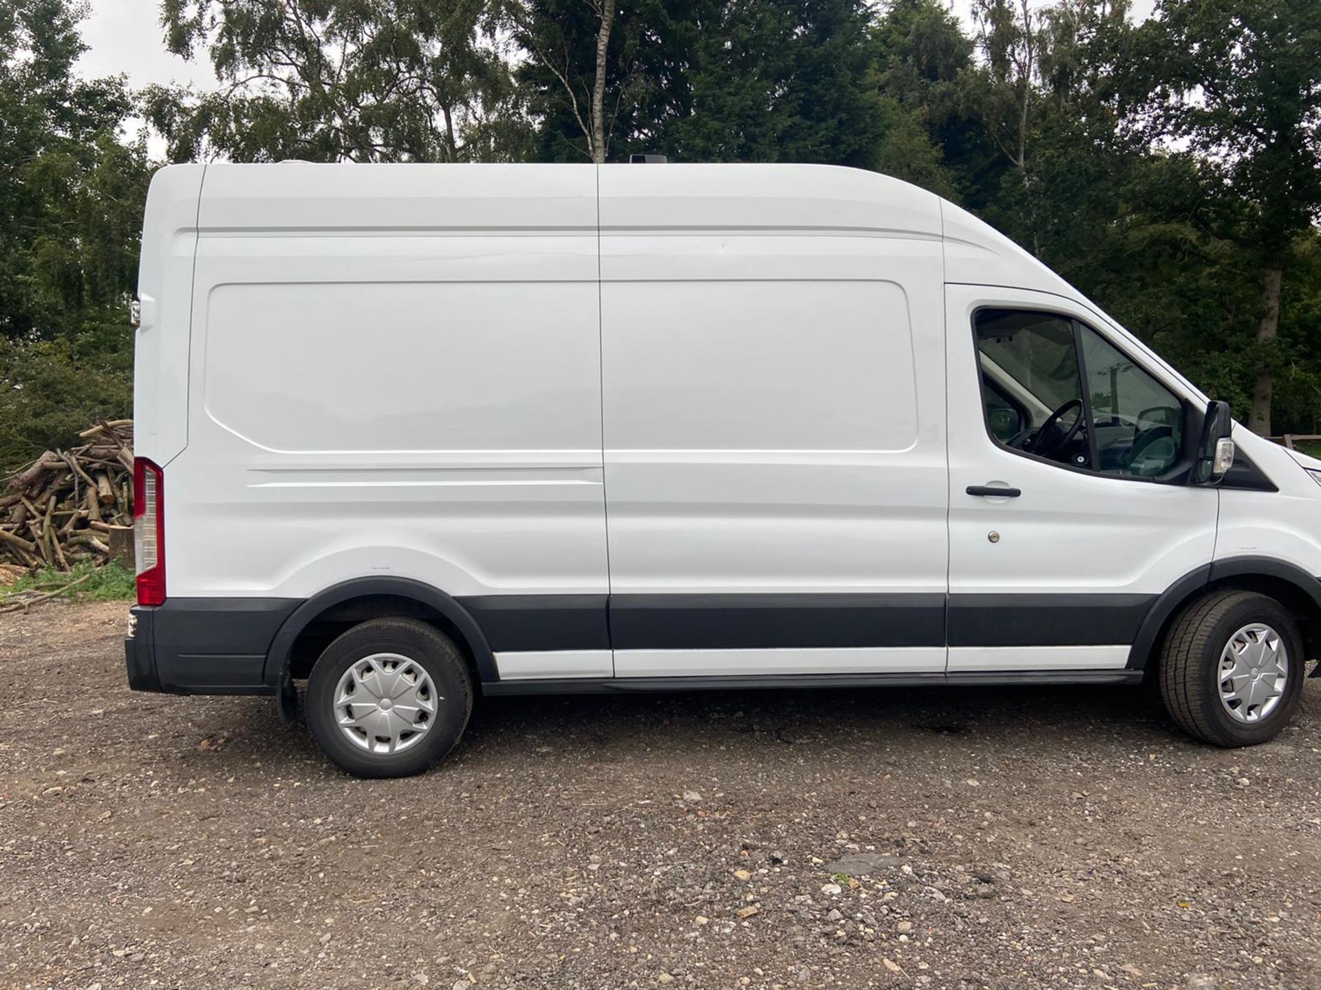
[[[78,8],[0,8],[0,466],[131,401],[148,164],[123,79],[79,79]]]

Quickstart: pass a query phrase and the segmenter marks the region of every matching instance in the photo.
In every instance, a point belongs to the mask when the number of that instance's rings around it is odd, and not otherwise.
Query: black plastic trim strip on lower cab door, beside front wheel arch
[[[1132,643],[1157,595],[952,594],[951,647],[1103,647]]]

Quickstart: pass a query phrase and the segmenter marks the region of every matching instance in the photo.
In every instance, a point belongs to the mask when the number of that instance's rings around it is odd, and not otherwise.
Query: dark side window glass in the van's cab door
[[[1069,317],[984,309],[975,334],[991,437],[1075,469],[1157,478],[1180,463],[1178,397]]]

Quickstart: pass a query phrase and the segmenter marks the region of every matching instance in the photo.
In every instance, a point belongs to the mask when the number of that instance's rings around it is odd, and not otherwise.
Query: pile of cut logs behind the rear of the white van
[[[69,570],[133,553],[133,421],[102,420],[0,488],[0,564]]]

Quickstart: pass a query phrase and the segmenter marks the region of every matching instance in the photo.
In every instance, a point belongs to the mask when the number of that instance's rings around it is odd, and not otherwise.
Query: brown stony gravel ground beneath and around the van
[[[494,700],[411,780],[0,616],[0,985],[1317,987],[1321,681],[1214,750],[1135,689]]]

